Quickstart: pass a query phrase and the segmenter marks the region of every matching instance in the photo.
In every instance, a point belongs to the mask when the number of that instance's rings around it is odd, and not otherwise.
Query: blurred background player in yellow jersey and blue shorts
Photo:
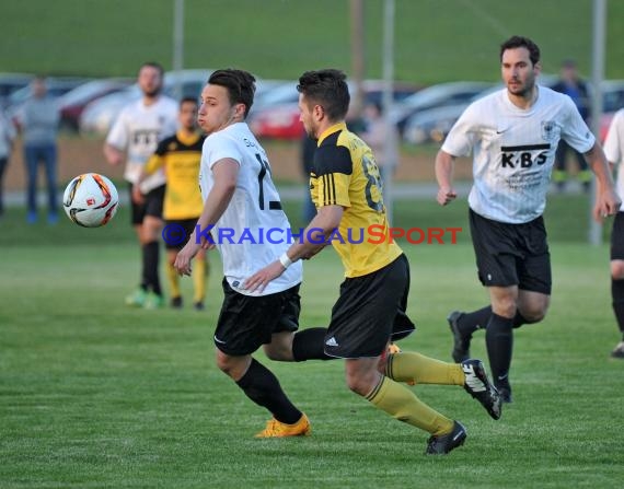
[[[139,182],[164,167],[166,187],[164,195],[163,218],[165,226],[163,237],[166,247],[166,276],[171,291],[171,306],[183,305],[180,291],[180,277],[173,267],[177,252],[182,249],[193,231],[204,200],[199,190],[199,163],[204,136],[197,131],[197,101],[185,97],[180,103],[180,130],[163,139],[150,158]],[[139,185],[134,187],[135,199],[142,198]],[[205,307],[208,261],[206,251],[196,256],[193,269],[193,306],[201,311]]]

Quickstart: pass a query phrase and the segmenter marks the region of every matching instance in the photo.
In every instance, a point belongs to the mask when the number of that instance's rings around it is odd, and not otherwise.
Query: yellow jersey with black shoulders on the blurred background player
[[[194,219],[201,214],[204,200],[199,190],[199,163],[204,136],[188,137],[181,131],[163,139],[146,164],[146,173],[164,167],[166,187],[163,218],[170,221]]]

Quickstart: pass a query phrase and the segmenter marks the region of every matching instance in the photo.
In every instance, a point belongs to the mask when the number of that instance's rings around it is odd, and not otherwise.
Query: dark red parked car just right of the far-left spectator
[[[128,79],[93,80],[77,86],[58,98],[60,124],[65,129],[78,130],[80,115],[88,104],[129,86]]]

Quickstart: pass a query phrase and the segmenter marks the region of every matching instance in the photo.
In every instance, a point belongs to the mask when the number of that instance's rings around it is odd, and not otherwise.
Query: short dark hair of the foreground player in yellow
[[[321,105],[330,120],[339,120],[347,116],[351,101],[346,79],[340,70],[307,71],[299,78],[297,91]]]

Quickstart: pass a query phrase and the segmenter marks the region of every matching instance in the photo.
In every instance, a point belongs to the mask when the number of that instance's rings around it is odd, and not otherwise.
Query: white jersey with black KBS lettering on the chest
[[[454,156],[472,151],[469,205],[487,219],[519,224],[542,216],[559,139],[581,153],[596,142],[569,96],[538,90],[528,109],[513,105],[507,89],[472,103],[442,144]]]

